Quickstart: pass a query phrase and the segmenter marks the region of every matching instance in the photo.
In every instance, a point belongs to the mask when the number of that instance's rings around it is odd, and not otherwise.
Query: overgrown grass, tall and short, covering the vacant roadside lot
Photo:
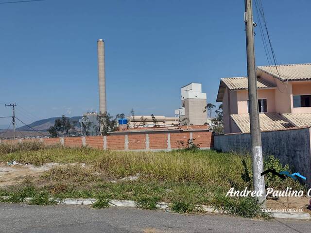
[[[248,155],[213,150],[122,152],[49,148],[39,143],[0,144],[0,162],[11,160],[37,166],[51,162],[71,165],[54,167],[40,177],[0,189],[0,196],[11,196],[2,201],[20,202],[33,197],[33,204],[52,204],[50,197],[96,198],[94,207],[105,207],[109,200],[119,199],[136,200],[147,209],[165,201],[175,212],[199,212],[196,207],[205,204],[236,216],[266,217],[254,199],[225,197],[231,187],[252,189]],[[129,176],[138,179],[122,180]],[[271,180],[269,185],[283,188],[299,184]]]

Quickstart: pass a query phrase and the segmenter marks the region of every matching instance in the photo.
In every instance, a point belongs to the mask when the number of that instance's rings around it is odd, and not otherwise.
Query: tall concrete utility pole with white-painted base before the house
[[[247,51],[247,77],[248,77],[248,100],[249,100],[249,121],[251,128],[251,148],[253,161],[253,183],[257,193],[259,203],[265,205],[265,185],[264,177],[260,175],[263,172],[263,159],[261,149],[261,135],[257,99],[257,77],[255,66],[254,50],[254,25],[252,0],[245,0],[244,13],[245,31],[246,31],[246,51]]]

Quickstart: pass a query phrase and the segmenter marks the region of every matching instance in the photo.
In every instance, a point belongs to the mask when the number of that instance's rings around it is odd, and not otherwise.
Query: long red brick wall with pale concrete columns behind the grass
[[[214,139],[208,131],[190,132],[139,132],[120,135],[64,137],[43,139],[0,140],[0,143],[18,143],[20,141],[42,141],[45,145],[62,144],[65,147],[89,146],[106,150],[171,150],[186,148],[190,138],[202,149],[213,148]]]

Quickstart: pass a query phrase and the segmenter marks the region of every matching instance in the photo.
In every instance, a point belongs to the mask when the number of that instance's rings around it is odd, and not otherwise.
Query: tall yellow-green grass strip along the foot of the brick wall
[[[0,151],[8,150],[0,149]],[[33,150],[29,145],[27,147],[19,145],[18,150],[9,151],[13,152],[0,153],[0,162],[17,160],[20,163],[34,165],[51,162],[86,163],[94,165],[97,171],[115,178],[139,173],[143,180],[197,182],[208,183],[211,186],[222,184],[221,186],[226,188],[248,186],[249,184],[241,177],[244,171],[241,160],[244,159],[249,168],[251,166],[249,156],[217,153],[213,150],[124,152],[64,147],[44,149],[41,145],[36,145]]]

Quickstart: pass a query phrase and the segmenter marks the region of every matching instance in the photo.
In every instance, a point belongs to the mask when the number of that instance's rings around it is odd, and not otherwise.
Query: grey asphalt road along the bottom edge
[[[259,221],[135,208],[0,204],[0,233],[308,233],[311,221]]]

